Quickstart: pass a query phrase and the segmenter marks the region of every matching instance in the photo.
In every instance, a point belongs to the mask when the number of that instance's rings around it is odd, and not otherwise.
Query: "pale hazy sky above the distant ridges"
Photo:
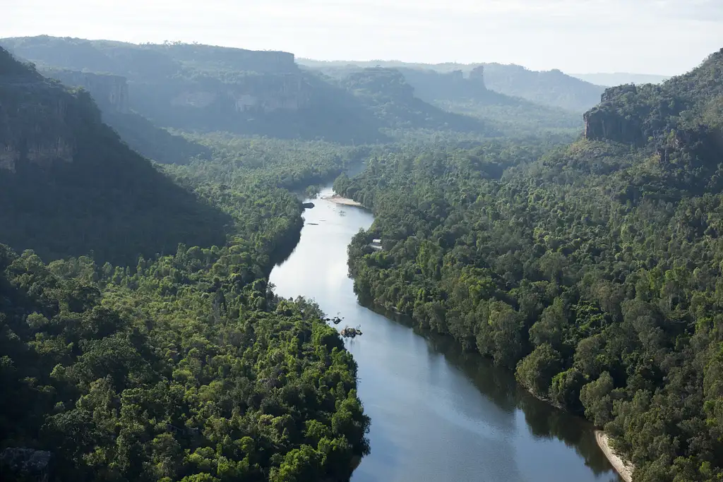
[[[197,41],[312,59],[679,74],[723,48],[723,0],[0,0],[0,37]]]

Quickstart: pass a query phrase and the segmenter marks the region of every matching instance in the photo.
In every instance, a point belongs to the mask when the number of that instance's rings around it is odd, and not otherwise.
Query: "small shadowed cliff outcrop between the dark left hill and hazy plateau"
[[[58,79],[69,87],[82,87],[93,97],[104,112],[129,111],[128,82],[125,77],[111,74],[93,74],[72,70],[48,69],[46,77]]]

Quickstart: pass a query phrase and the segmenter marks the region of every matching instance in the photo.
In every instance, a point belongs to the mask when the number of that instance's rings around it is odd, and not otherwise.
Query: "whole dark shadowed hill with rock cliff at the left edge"
[[[228,219],[173,184],[68,90],[0,49],[0,241],[51,259],[132,262],[223,244]]]

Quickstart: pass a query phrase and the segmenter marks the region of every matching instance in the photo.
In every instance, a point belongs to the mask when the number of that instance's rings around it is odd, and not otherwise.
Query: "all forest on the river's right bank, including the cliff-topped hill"
[[[720,480],[722,59],[609,90],[569,147],[406,150],[341,176],[377,214],[349,248],[360,297],[584,413],[636,482]]]

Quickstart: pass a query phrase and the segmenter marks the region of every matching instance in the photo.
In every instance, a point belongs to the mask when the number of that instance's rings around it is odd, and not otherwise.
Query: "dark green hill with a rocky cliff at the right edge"
[[[723,49],[662,85],[620,85],[585,113],[585,137],[620,142],[651,155],[638,168],[671,189],[723,189]]]

